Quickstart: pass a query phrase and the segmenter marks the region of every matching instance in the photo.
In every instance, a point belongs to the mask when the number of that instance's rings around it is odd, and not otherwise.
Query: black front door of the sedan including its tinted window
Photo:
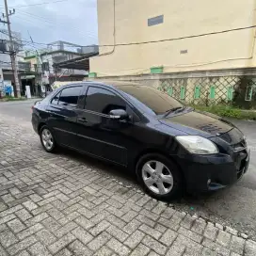
[[[89,86],[85,108],[77,112],[77,136],[81,151],[126,166],[134,123],[110,119],[109,112],[120,108],[130,112],[128,104],[110,88]]]

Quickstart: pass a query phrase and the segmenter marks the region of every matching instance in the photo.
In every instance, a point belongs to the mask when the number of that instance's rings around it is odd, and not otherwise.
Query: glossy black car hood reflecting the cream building
[[[234,127],[232,123],[222,120],[216,115],[195,110],[179,113],[176,116],[168,116],[159,121],[188,135],[206,137],[225,134]]]

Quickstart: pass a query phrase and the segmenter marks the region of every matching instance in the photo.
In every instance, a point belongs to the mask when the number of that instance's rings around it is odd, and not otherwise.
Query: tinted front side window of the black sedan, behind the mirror
[[[126,110],[126,103],[113,92],[104,88],[88,88],[86,109],[108,115],[113,109]]]

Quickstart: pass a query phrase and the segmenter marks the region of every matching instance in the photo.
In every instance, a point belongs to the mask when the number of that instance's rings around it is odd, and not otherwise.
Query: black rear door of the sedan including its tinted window
[[[47,106],[48,125],[60,145],[77,148],[77,108],[83,86],[71,86],[60,90]]]

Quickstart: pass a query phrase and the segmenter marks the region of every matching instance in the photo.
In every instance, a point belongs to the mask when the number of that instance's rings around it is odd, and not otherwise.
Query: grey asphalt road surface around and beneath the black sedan
[[[35,102],[0,103],[0,114],[7,115],[22,125],[31,129],[31,105]],[[190,214],[197,214],[223,225],[236,228],[241,232],[248,232],[256,238],[256,122],[248,120],[233,120],[248,138],[248,147],[251,150],[251,161],[247,175],[237,184],[221,191],[204,195],[185,195],[182,200],[173,202],[177,209]],[[17,122],[18,123],[18,122]],[[40,147],[40,142],[38,144]],[[134,177],[127,175],[120,168],[108,166],[105,163],[77,155],[74,152],[60,152],[78,162],[89,163],[95,168],[103,168],[104,173],[114,177],[122,184],[138,187]]]

